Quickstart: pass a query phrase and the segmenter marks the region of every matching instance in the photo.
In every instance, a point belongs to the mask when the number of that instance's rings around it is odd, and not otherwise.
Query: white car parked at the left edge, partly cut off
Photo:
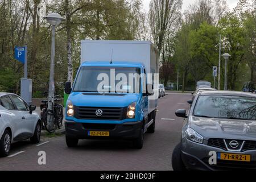
[[[0,156],[9,154],[11,143],[40,142],[41,120],[35,109],[16,94],[0,92]]]

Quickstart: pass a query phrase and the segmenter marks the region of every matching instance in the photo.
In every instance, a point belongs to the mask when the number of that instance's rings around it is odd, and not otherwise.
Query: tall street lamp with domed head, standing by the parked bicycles
[[[48,109],[53,110],[52,108],[52,100],[55,92],[54,85],[54,67],[55,67],[55,28],[61,23],[61,21],[65,20],[61,17],[61,15],[57,13],[51,13],[47,16],[43,17],[47,20],[49,24],[52,26],[52,46],[51,46],[51,68],[50,68],[50,76],[49,76],[49,92],[48,92]],[[53,117],[51,115],[47,116],[47,121],[49,122],[50,127],[53,126]]]

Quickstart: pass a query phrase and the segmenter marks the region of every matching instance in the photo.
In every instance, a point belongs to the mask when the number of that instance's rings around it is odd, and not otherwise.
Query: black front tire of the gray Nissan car
[[[172,152],[172,169],[174,169],[174,171],[187,171],[181,159],[181,147],[181,143],[177,144]]]

